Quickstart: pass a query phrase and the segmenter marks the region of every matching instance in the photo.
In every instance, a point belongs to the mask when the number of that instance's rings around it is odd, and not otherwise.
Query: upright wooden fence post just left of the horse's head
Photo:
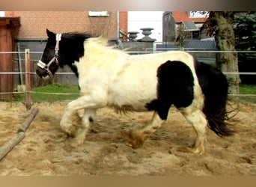
[[[31,108],[31,85],[30,85],[30,51],[25,49],[25,107]]]

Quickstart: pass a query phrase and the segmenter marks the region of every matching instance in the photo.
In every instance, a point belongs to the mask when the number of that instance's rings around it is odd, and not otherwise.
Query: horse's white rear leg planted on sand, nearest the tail
[[[180,147],[178,148],[178,150],[183,152],[203,154],[207,127],[207,120],[204,117],[204,113],[199,109],[194,111],[191,106],[183,109],[179,108],[179,110],[184,115],[186,120],[192,124],[197,136],[195,138],[195,143],[192,145],[192,147]]]

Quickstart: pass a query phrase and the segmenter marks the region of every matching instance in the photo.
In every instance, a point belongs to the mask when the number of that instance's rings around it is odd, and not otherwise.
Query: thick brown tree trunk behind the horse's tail
[[[219,51],[235,51],[234,12],[210,12],[210,17],[216,23],[215,40]],[[238,73],[237,52],[217,52],[216,65],[222,72]],[[227,74],[226,77],[229,85],[228,93],[239,94],[239,74]]]

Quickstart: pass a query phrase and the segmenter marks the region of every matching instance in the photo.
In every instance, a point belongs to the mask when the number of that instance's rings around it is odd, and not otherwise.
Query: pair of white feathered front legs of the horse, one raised
[[[104,99],[95,99],[91,96],[80,96],[78,99],[68,103],[60,125],[64,132],[74,137],[73,146],[83,144],[89,125],[96,116],[97,108],[103,107],[104,104]],[[81,119],[77,114],[77,110],[82,108],[85,108],[85,113]]]

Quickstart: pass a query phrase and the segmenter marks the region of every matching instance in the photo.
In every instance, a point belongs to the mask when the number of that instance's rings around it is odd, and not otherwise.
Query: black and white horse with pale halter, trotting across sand
[[[174,105],[196,132],[195,143],[177,149],[204,153],[207,126],[219,135],[232,135],[228,123],[228,82],[209,64],[196,61],[188,52],[168,51],[129,55],[108,45],[106,38],[89,33],[55,34],[46,29],[48,40],[37,63],[41,78],[67,65],[76,73],[78,99],[69,102],[61,117],[61,129],[73,136],[73,146],[84,144],[98,108],[115,111],[151,111],[146,126],[121,132],[127,146],[141,147],[159,129]],[[84,109],[79,118],[77,111]]]

